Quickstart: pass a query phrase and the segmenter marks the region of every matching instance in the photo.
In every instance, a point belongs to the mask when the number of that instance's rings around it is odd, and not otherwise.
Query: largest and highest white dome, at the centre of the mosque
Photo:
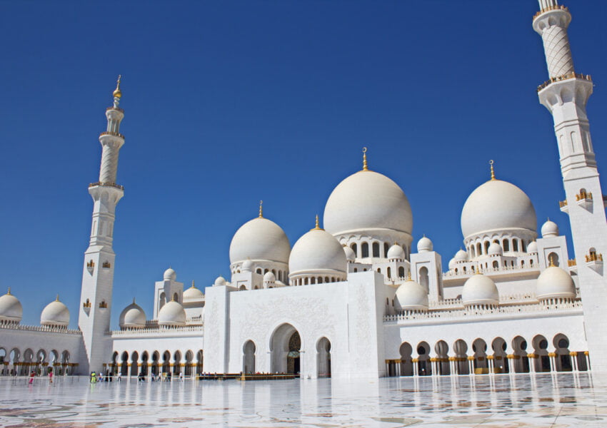
[[[403,190],[386,175],[358,171],[328,197],[324,227],[332,235],[353,230],[389,229],[411,233],[413,215]]]

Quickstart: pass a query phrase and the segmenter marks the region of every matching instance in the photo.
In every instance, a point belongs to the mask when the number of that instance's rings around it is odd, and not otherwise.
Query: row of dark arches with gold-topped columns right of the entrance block
[[[550,348],[550,349],[548,349]],[[445,374],[489,374],[528,372],[577,372],[590,370],[588,351],[569,349],[566,335],[559,333],[551,339],[543,335],[533,337],[531,343],[517,336],[511,340],[511,353],[503,337],[490,342],[474,340],[468,345],[456,340],[449,350],[444,340],[433,349],[428,342],[419,342],[413,348],[403,342],[398,349],[401,358],[386,360],[388,376],[431,376]],[[415,352],[416,356],[413,356]],[[431,357],[431,354],[434,354]]]

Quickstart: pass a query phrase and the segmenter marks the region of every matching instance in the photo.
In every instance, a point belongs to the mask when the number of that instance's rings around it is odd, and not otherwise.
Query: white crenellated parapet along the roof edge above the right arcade
[[[553,300],[551,302],[529,302],[518,305],[500,305],[498,307],[475,307],[473,309],[453,307],[449,310],[430,310],[428,312],[403,311],[396,315],[385,315],[383,317],[383,322],[398,324],[408,320],[466,320],[478,317],[496,317],[496,315],[517,315],[581,309],[582,302],[579,299]]]

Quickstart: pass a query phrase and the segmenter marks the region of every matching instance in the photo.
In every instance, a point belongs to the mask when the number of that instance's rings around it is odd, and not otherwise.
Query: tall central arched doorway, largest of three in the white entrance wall
[[[299,374],[301,337],[291,324],[283,324],[274,331],[270,341],[273,373]]]

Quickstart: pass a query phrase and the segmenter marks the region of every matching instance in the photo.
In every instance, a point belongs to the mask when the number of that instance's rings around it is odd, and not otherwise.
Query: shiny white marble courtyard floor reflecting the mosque
[[[89,384],[0,378],[0,426],[607,427],[587,373]]]

